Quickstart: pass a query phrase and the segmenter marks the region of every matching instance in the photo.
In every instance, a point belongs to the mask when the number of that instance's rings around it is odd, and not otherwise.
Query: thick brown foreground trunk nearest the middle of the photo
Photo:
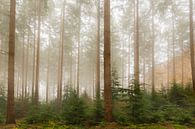
[[[110,0],[104,0],[104,106],[105,120],[112,121]]]

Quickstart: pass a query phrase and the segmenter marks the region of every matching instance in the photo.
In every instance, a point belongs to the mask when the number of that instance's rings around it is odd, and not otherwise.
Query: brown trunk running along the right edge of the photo
[[[189,0],[190,10],[190,56],[191,56],[191,69],[192,69],[192,85],[195,92],[195,62],[194,62],[194,29],[193,29],[193,1]]]

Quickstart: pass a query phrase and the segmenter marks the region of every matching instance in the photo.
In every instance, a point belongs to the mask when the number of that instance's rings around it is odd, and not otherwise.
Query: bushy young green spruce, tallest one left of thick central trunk
[[[62,120],[66,124],[83,124],[86,118],[84,101],[79,98],[75,90],[68,90],[64,95],[62,106]]]

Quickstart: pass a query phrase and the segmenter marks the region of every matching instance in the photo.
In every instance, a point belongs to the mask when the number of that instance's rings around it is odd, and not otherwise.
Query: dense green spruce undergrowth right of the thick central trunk
[[[113,101],[120,104],[114,105],[114,118],[120,123],[195,124],[195,95],[190,87],[172,84],[171,89],[153,94],[135,84],[131,85],[132,90],[116,89],[118,97]]]

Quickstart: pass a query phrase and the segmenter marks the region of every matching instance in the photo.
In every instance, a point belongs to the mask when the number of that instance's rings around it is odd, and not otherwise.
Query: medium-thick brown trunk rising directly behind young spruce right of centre
[[[139,84],[139,0],[135,6],[135,43],[134,43],[134,79]]]

